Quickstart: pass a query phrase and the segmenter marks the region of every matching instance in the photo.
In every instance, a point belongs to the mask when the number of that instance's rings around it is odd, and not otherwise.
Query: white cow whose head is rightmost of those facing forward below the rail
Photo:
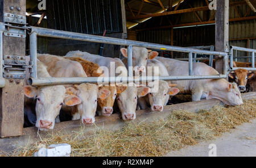
[[[159,76],[168,76],[168,72],[166,67],[162,64],[162,62],[158,60],[149,60],[147,62],[147,68],[152,67],[152,70],[154,70],[154,67],[159,68]],[[156,72],[152,72],[154,75]],[[166,81],[155,81],[148,83],[149,85],[154,87],[154,90],[151,90],[151,93],[143,98],[139,98],[139,107],[141,109],[146,109],[147,104],[150,104],[152,111],[163,111],[164,106],[168,103],[168,100],[170,98],[170,95],[176,95],[179,93],[179,89],[173,87],[176,85],[173,85],[171,83],[168,83]],[[155,87],[155,85],[158,85],[158,88]],[[156,89],[156,90],[155,90]]]

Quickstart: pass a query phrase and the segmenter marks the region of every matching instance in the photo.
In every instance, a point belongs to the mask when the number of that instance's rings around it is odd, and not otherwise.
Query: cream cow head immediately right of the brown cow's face
[[[123,120],[136,119],[136,107],[138,97],[146,96],[150,92],[149,87],[127,87],[123,93],[118,94],[117,104],[122,113]]]

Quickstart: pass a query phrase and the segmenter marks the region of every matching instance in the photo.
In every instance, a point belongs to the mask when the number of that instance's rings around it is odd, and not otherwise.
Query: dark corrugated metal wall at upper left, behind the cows
[[[120,0],[48,0],[48,28],[101,35],[123,32]]]

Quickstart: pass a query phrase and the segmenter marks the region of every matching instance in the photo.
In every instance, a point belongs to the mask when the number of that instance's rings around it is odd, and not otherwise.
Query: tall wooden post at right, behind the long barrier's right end
[[[229,51],[229,0],[216,0],[215,48],[216,51]],[[223,58],[217,58],[216,70],[223,74]]]

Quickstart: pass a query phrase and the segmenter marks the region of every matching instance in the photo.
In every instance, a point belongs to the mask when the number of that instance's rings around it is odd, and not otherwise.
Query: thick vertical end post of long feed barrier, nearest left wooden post
[[[37,78],[38,74],[37,74],[37,39],[36,39],[36,33],[32,32],[30,35],[30,60],[32,61],[32,73],[31,73],[31,77],[32,78]]]

